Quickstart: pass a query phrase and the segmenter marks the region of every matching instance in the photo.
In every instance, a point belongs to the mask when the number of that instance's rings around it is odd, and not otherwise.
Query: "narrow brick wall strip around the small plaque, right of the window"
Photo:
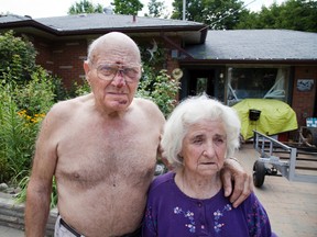
[[[303,91],[298,89],[297,83],[300,79],[313,80],[314,86],[310,88],[310,90]],[[296,112],[298,126],[305,126],[306,117],[311,117],[314,115],[314,106],[316,106],[316,67],[295,67],[292,108]]]

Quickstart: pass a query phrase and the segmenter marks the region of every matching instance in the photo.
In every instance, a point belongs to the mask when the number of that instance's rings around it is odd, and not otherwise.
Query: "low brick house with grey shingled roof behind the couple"
[[[89,43],[119,31],[150,54],[157,45],[164,49],[163,67],[182,76],[179,99],[203,91],[227,104],[249,97],[273,98],[293,108],[299,126],[306,117],[317,116],[316,33],[209,31],[197,22],[98,13],[43,19],[1,15],[0,32],[8,30],[26,35],[39,52],[36,63],[66,86],[85,78],[83,60]]]

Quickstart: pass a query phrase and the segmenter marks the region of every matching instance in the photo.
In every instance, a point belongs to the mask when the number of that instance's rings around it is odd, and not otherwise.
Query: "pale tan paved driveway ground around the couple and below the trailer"
[[[237,157],[252,173],[253,163],[259,157],[252,144],[243,145]],[[317,236],[317,183],[291,182],[284,177],[266,176],[263,187],[254,188],[254,191],[278,237]],[[0,236],[23,237],[24,233],[0,226]]]

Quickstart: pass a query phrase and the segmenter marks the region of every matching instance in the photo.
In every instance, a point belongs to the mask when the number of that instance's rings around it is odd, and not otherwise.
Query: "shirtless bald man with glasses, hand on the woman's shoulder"
[[[164,116],[133,98],[141,78],[136,44],[122,33],[97,38],[84,63],[92,93],[55,104],[43,121],[28,187],[25,234],[43,237],[52,179],[58,190],[55,236],[140,236]],[[236,161],[223,177],[238,205],[251,178]],[[233,168],[236,167],[236,168]]]

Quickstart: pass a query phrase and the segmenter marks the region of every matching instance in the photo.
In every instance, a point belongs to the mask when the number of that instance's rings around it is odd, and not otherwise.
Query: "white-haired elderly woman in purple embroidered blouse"
[[[174,170],[151,184],[143,236],[275,236],[254,193],[233,208],[223,195],[220,170],[239,148],[234,110],[209,99],[183,101],[164,128],[163,155]]]

